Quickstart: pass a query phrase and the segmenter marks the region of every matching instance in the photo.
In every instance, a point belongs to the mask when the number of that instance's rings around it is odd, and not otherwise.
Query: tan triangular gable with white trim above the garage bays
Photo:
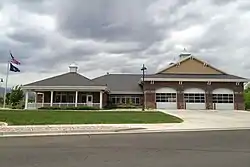
[[[194,56],[188,56],[157,74],[226,74]]]

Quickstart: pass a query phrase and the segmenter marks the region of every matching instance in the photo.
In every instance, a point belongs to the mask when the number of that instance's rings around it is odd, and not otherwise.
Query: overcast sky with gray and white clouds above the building
[[[9,50],[22,65],[9,85],[68,72],[89,78],[154,73],[187,48],[250,78],[248,0],[0,0],[0,78]]]

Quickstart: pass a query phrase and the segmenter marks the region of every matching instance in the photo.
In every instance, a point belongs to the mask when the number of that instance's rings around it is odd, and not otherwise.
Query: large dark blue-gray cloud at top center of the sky
[[[153,0],[63,1],[57,21],[60,30],[72,38],[152,43],[161,39],[157,27],[147,19],[146,10],[152,2]]]

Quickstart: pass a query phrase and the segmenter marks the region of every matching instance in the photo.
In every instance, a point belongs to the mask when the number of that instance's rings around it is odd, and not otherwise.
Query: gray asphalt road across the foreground
[[[0,167],[249,167],[250,131],[0,138]]]

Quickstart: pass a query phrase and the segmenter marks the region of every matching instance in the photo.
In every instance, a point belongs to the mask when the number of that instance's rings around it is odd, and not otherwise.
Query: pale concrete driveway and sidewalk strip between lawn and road
[[[162,112],[180,117],[184,122],[160,124],[0,126],[0,137],[250,129],[250,113],[246,111],[162,110]]]

